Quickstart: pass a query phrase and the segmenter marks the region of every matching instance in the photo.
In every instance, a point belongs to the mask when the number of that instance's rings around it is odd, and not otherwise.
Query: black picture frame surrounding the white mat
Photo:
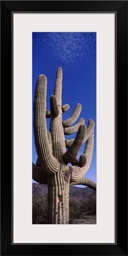
[[[13,12],[116,13],[115,244],[12,244]],[[127,150],[124,147],[127,145],[127,1],[1,1],[1,96],[1,113],[4,119],[1,122],[1,255],[127,255]],[[11,115],[12,125],[10,118],[8,120]]]

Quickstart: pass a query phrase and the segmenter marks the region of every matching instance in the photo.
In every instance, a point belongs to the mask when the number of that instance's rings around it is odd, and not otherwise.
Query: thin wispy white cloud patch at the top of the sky
[[[42,51],[68,66],[88,61],[95,51],[96,33],[39,33],[38,36]]]

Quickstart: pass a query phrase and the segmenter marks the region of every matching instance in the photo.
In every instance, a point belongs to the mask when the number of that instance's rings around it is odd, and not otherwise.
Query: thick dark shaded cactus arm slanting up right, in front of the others
[[[81,145],[83,145],[85,132],[86,132],[86,125],[84,124],[80,125],[79,130],[77,131],[74,143],[72,143],[72,146],[68,148],[65,154],[63,154],[63,161],[65,163],[72,163],[76,159],[77,154],[79,153],[79,150],[81,148]]]

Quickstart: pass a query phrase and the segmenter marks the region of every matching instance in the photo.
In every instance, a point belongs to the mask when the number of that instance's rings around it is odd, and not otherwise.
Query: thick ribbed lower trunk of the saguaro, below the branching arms
[[[49,175],[47,216],[49,224],[68,224],[69,221],[69,181],[64,179],[61,170]]]

